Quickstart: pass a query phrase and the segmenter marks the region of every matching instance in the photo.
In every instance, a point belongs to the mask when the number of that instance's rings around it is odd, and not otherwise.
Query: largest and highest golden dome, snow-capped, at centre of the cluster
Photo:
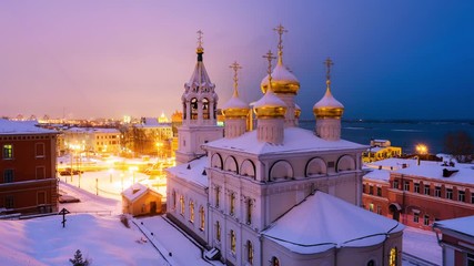
[[[260,88],[263,93],[266,92],[269,88],[269,75],[263,78]],[[274,93],[282,94],[296,94],[300,90],[300,81],[297,81],[296,76],[283,65],[280,58],[272,72],[272,90]]]

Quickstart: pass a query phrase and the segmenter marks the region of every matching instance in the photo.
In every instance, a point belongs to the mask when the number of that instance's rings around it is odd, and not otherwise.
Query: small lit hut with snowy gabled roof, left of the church
[[[122,212],[133,216],[160,214],[161,200],[160,193],[135,183],[122,192]]]

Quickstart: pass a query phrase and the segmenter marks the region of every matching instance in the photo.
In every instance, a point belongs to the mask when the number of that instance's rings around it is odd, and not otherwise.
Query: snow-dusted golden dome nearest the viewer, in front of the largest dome
[[[272,91],[268,91],[263,98],[253,105],[256,119],[284,117],[286,104],[280,100]]]

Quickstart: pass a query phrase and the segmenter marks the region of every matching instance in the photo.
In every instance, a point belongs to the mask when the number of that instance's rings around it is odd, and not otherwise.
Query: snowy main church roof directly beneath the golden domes
[[[256,137],[256,131],[246,132],[235,139],[220,139],[204,144],[204,147],[215,147],[224,150],[240,151],[248,154],[272,154],[272,153],[299,153],[315,151],[334,151],[334,150],[365,150],[366,145],[339,140],[326,141],[317,137],[313,131],[300,127],[284,129],[283,144],[274,145],[266,142],[260,142]]]

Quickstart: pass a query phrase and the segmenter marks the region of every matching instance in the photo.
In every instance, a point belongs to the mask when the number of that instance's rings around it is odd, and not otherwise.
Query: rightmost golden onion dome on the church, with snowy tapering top
[[[344,105],[334,99],[331,93],[331,81],[326,81],[326,93],[314,104],[313,113],[316,119],[341,119],[344,113]]]

